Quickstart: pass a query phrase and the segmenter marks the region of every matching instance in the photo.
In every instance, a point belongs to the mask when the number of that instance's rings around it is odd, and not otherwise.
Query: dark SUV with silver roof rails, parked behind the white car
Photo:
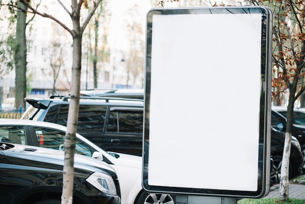
[[[67,125],[70,97],[25,98],[21,119]],[[77,133],[113,152],[142,155],[143,100],[81,97]]]

